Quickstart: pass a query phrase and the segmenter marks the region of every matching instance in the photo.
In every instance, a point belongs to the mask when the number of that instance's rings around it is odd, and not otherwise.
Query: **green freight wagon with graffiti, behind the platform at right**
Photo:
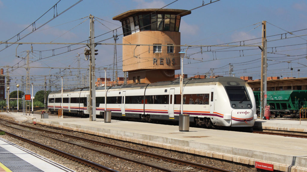
[[[290,115],[299,118],[301,108],[307,108],[307,90],[267,91],[266,103],[272,115]],[[260,108],[260,92],[254,92],[257,110]]]

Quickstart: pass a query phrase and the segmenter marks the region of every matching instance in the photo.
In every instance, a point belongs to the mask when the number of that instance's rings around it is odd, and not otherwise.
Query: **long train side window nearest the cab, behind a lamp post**
[[[174,104],[181,104],[181,95],[175,95]],[[209,104],[209,94],[185,94],[183,104]]]

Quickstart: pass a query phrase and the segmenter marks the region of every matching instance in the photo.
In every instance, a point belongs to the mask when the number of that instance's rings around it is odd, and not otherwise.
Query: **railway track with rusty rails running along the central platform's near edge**
[[[146,151],[140,151],[132,148],[126,148],[114,144],[108,144],[99,142],[96,140],[90,140],[82,137],[67,135],[64,133],[52,132],[45,129],[37,129],[35,127],[30,127],[26,125],[17,124],[14,122],[6,122],[10,125],[3,124],[15,129],[21,130],[31,130],[31,132],[40,132],[39,134],[45,137],[49,137],[61,142],[77,145],[83,148],[87,148],[90,151],[96,151],[104,155],[114,156],[120,159],[125,159],[134,163],[140,163],[152,168],[156,168],[162,171],[178,171],[178,172],[203,172],[203,171],[212,171],[212,172],[225,172],[229,170],[223,170],[220,168],[206,166],[203,164],[188,162],[185,160],[175,159],[163,155],[157,155]],[[13,126],[14,125],[14,126]],[[41,134],[41,132],[44,132]],[[47,136],[46,133],[51,133]]]

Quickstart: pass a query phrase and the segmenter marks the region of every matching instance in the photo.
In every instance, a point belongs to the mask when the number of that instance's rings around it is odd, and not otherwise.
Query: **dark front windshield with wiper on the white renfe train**
[[[244,86],[225,86],[230,101],[250,101]]]

